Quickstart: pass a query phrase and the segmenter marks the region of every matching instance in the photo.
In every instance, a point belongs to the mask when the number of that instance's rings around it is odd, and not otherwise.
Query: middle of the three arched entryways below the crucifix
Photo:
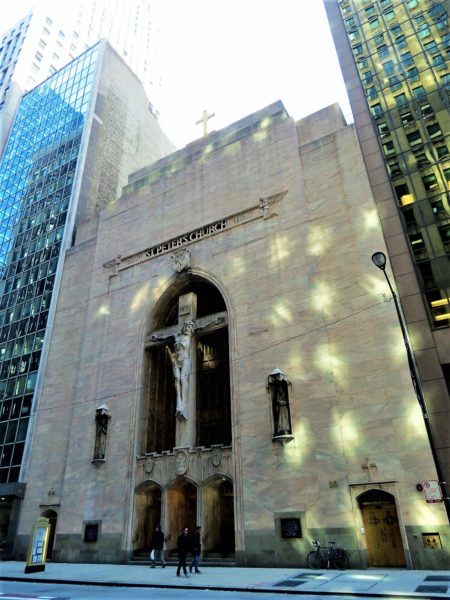
[[[176,550],[177,538],[185,527],[193,532],[197,525],[197,488],[184,478],[177,479],[167,490],[167,549]]]

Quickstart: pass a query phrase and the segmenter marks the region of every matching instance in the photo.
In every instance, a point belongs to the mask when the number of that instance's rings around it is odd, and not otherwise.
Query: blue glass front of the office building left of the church
[[[0,163],[0,484],[19,481],[98,49],[23,97]]]

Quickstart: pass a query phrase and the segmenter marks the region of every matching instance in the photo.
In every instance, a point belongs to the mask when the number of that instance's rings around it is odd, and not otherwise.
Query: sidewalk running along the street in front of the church
[[[328,594],[390,598],[445,598],[450,600],[450,571],[367,569],[348,571],[205,567],[200,575],[177,577],[167,566],[47,563],[45,571],[25,574],[25,563],[0,562],[0,580],[46,581],[78,585],[161,587],[285,594]]]

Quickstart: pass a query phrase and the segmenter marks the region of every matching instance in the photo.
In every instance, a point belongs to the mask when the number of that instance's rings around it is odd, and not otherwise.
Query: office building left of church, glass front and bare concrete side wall
[[[52,306],[77,224],[114,200],[126,175],[174,146],[142,84],[102,41],[26,94],[0,163],[0,536],[26,484]],[[67,349],[69,352],[69,348]]]

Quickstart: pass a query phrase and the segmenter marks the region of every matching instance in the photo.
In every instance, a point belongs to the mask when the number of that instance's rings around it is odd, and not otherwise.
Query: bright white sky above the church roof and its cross
[[[162,72],[157,109],[177,147],[202,136],[195,122],[204,110],[215,114],[209,131],[276,100],[296,120],[334,102],[352,120],[322,0],[154,2]],[[5,1],[0,30],[32,4]]]

